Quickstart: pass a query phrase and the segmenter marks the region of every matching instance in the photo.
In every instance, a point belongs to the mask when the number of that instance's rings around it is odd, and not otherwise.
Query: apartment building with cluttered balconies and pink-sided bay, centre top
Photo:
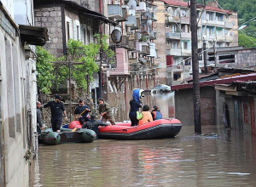
[[[125,88],[154,87],[157,72],[154,65],[154,40],[157,38],[153,29],[157,21],[155,8],[153,1],[108,1],[108,18],[118,22],[117,26],[110,26],[110,33],[119,30],[122,35],[119,43],[109,41],[116,54],[116,65],[106,77],[109,92],[123,93]]]

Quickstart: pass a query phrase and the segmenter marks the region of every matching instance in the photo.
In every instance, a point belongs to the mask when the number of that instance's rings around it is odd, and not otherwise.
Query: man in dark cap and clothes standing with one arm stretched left
[[[44,105],[44,108],[47,107],[50,107],[52,130],[57,133],[61,132],[62,112],[65,115],[65,120],[67,121],[67,112],[61,102],[61,96],[55,95],[55,100],[49,101],[48,104]]]

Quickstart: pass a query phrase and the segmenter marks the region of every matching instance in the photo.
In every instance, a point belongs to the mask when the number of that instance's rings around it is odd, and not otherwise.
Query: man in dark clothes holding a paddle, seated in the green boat
[[[74,115],[79,118],[79,122],[84,125],[84,122],[88,122],[90,107],[88,105],[84,105],[84,99],[79,99],[79,106],[74,111]]]

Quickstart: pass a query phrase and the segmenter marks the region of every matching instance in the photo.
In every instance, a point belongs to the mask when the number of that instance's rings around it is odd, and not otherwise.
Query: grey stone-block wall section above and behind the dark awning
[[[61,7],[35,8],[35,26],[45,26],[48,29],[49,42],[44,45],[50,54],[63,55]]]

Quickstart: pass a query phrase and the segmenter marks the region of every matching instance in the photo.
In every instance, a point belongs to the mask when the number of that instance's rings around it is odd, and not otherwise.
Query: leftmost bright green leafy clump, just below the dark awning
[[[44,48],[37,47],[36,53],[38,55],[37,59],[37,71],[38,71],[38,88],[44,94],[50,93],[50,88],[52,86],[52,80],[54,79],[54,75],[52,73],[53,66],[52,61],[54,58],[48,51],[44,50]]]

